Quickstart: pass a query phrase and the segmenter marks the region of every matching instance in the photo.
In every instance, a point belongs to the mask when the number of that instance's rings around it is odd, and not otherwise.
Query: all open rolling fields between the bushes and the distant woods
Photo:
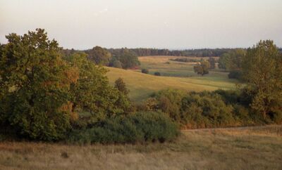
[[[193,64],[168,61],[169,56],[140,57],[141,68],[149,69],[150,74],[143,74],[140,70],[122,70],[107,67],[106,74],[109,81],[114,84],[118,77],[123,78],[130,89],[130,98],[140,102],[150,94],[161,89],[182,89],[185,91],[214,91],[216,89],[235,89],[238,81],[228,79],[227,72],[211,71],[204,77],[193,71]],[[169,62],[170,64],[166,64]],[[154,72],[161,72],[161,77],[154,76]]]

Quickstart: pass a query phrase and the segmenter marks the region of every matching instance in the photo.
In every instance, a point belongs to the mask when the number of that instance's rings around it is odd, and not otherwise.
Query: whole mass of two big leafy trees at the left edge
[[[59,140],[72,125],[131,112],[128,91],[110,86],[106,70],[85,53],[62,52],[41,29],[7,39],[0,48],[1,129],[24,138]],[[79,117],[78,112],[89,114]]]

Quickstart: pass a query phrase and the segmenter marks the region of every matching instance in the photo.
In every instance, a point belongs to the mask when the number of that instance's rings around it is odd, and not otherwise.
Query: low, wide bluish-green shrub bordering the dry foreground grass
[[[88,129],[75,130],[71,143],[144,143],[170,141],[178,136],[176,124],[159,112],[138,112],[127,117],[111,117]]]

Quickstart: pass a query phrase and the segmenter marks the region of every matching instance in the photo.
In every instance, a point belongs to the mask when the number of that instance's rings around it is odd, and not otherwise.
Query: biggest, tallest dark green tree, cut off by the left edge
[[[62,138],[70,128],[68,90],[78,73],[42,29],[6,39],[0,58],[0,123],[29,138]]]

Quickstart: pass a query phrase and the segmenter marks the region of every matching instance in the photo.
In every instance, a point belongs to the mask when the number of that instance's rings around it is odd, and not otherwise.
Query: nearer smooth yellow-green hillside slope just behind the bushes
[[[161,89],[183,89],[185,91],[214,91],[216,89],[234,89],[234,80],[225,77],[157,77],[151,74],[142,74],[134,70],[122,70],[106,67],[111,84],[119,77],[123,78],[130,89],[130,98],[141,101],[150,94]]]

